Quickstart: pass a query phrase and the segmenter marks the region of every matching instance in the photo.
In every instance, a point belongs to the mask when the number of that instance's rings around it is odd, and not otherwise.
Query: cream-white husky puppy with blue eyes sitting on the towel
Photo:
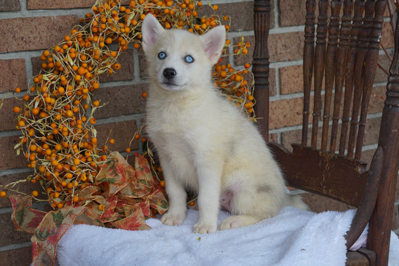
[[[148,14],[142,47],[150,78],[147,133],[164,173],[169,210],[166,225],[186,217],[186,190],[198,193],[200,219],[193,231],[217,230],[219,208],[233,215],[221,229],[237,228],[276,215],[284,206],[306,208],[287,194],[279,166],[255,126],[217,93],[211,68],[226,32],[202,36],[164,30]]]

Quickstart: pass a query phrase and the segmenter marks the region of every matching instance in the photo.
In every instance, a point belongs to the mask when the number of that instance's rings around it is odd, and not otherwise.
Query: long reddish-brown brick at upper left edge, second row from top
[[[2,35],[7,36],[0,38],[0,52],[47,49],[63,40],[78,23],[76,15],[0,19]]]

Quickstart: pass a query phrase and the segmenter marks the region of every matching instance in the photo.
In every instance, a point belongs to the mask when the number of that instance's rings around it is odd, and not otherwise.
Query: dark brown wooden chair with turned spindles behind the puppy
[[[378,63],[385,5],[383,0],[319,0],[319,16],[316,19],[316,1],[306,1],[302,141],[301,144],[292,144],[292,152],[279,144],[270,143],[289,186],[358,208],[345,236],[347,247],[352,246],[369,223],[367,249],[347,252],[347,265],[387,265],[388,261],[398,176],[399,31],[395,35],[395,54],[389,71],[378,148],[368,169],[367,164],[359,160],[367,107]],[[331,12],[327,12],[329,9]],[[268,140],[267,42],[270,1],[255,0],[254,11],[255,52],[252,71],[257,99],[255,111],[258,117],[263,118],[259,121],[259,127],[266,132],[264,137]],[[330,19],[327,14],[330,14]],[[325,86],[322,88],[323,79]],[[314,109],[310,110],[312,80]],[[323,111],[322,89],[325,90]],[[334,108],[330,109],[332,102]],[[343,113],[341,118],[340,113]],[[341,131],[338,131],[340,120]],[[319,122],[322,126],[321,146],[318,147]],[[308,129],[311,129],[310,144]]]

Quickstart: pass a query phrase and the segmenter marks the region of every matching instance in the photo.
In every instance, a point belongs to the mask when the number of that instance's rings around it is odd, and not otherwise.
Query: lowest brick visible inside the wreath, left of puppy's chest
[[[109,137],[108,140],[115,140],[115,144],[107,143],[109,150],[125,151],[125,149],[129,147],[129,142],[134,137],[134,133],[136,133],[137,129],[136,120],[98,125],[96,126],[98,146],[102,147]],[[130,148],[131,151],[137,150],[138,142],[134,140]]]

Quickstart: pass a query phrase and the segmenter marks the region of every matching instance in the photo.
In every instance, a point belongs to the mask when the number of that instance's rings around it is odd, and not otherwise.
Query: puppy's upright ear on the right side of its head
[[[226,43],[226,30],[224,26],[214,27],[209,32],[206,32],[206,34],[200,36],[200,40],[211,63],[217,63]]]

